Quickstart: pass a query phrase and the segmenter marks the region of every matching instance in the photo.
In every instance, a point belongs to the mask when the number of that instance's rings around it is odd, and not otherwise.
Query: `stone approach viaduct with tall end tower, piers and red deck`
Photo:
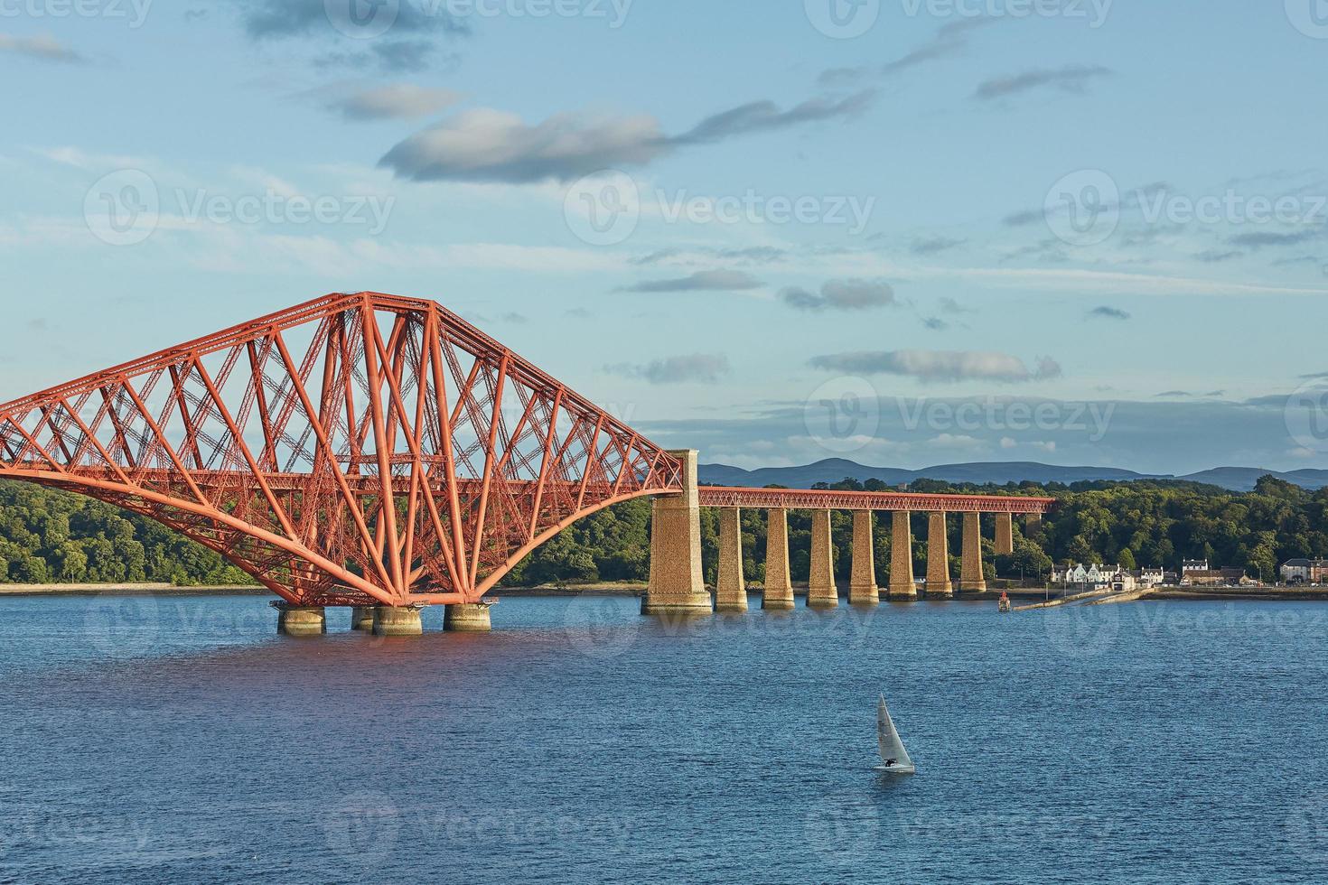
[[[651,582],[641,601],[643,614],[705,614],[745,612],[746,581],[742,575],[741,510],[760,508],[769,515],[766,532],[765,585],[761,606],[791,609],[793,576],[789,569],[790,510],[811,511],[811,569],[807,577],[807,606],[839,605],[834,580],[830,512],[853,513],[853,567],[849,602],[878,605],[872,512],[891,513],[888,600],[915,600],[912,529],[914,512],[928,513],[927,580],[928,598],[954,597],[956,584],[950,573],[948,515],[963,520],[961,567],[957,589],[987,589],[983,577],[981,515],[996,521],[996,553],[1015,552],[1013,520],[1023,513],[1025,535],[1035,536],[1042,513],[1054,503],[1050,498],[997,498],[985,495],[922,495],[910,492],[842,492],[799,488],[720,488],[697,484],[697,452],[671,451],[683,464],[683,492],[655,499],[651,533]],[[701,572],[701,507],[720,508],[720,563],[714,600]]]

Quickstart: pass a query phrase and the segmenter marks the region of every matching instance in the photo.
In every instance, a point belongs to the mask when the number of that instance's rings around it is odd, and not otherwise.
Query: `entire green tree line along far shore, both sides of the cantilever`
[[[845,479],[819,484],[845,491],[894,491],[880,480]],[[1271,580],[1293,557],[1328,557],[1328,488],[1305,491],[1272,476],[1252,492],[1178,480],[1088,482],[1070,486],[1009,483],[951,484],[920,479],[915,492],[1032,495],[1057,499],[1036,539],[1015,520],[1013,556],[995,556],[992,520],[984,519],[988,579],[1045,580],[1053,564],[1159,565],[1182,559],[1214,567],[1244,567]],[[503,586],[645,581],[649,577],[649,499],[610,507],[574,523],[527,556]],[[891,516],[875,513],[876,581],[890,579]],[[927,513],[911,517],[914,572],[927,561]],[[831,515],[835,575],[849,580],[853,515]],[[959,573],[960,520],[950,519],[951,573]],[[742,511],[742,559],[749,581],[765,579],[766,513]],[[701,555],[706,581],[718,563],[718,511],[701,511]],[[789,559],[794,580],[805,580],[811,559],[811,515],[789,512]],[[169,582],[252,584],[219,555],[137,513],[64,491],[0,482],[0,580],[16,584]]]

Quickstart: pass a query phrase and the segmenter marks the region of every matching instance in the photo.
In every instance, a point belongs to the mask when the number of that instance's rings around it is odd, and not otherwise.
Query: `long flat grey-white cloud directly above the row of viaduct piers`
[[[857,350],[811,360],[811,366],[846,374],[907,375],[924,382],[997,381],[1020,383],[1061,377],[1050,357],[1029,369],[1019,357],[987,350]]]

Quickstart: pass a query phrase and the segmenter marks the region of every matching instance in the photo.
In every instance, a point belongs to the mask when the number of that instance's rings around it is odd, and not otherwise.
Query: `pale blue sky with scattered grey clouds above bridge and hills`
[[[432,297],[748,468],[1328,468],[1323,0],[0,0],[0,399]]]

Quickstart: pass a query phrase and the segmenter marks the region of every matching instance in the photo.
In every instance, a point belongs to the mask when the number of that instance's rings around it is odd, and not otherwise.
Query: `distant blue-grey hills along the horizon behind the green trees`
[[[1254,490],[1260,476],[1274,475],[1303,488],[1319,490],[1328,486],[1328,470],[1296,470],[1280,472],[1258,467],[1215,467],[1198,474],[1175,476],[1170,474],[1137,474],[1133,470],[1117,467],[1057,467],[1037,462],[991,462],[968,464],[939,464],[923,470],[902,470],[899,467],[866,467],[845,458],[827,458],[803,467],[762,467],[742,470],[728,464],[701,464],[701,482],[709,486],[788,486],[809,488],[815,483],[837,483],[846,476],[858,482],[879,479],[887,486],[900,486],[915,479],[939,479],[950,483],[1082,483],[1092,480],[1129,482],[1135,479],[1183,479],[1195,483],[1208,483],[1238,492]]]

